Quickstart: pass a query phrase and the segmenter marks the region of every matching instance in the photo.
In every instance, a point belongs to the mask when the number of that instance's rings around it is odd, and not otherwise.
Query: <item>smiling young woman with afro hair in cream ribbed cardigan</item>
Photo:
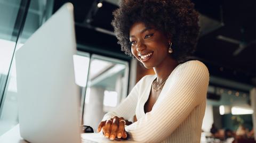
[[[200,142],[209,71],[196,60],[198,13],[189,0],[126,0],[112,22],[122,51],[155,75],[143,77],[107,113],[98,132],[113,140]],[[127,121],[136,115],[138,121]]]

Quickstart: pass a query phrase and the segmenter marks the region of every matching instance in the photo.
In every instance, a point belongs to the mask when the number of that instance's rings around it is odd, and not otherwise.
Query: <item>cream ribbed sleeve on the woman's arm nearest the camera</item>
[[[159,96],[153,109],[125,130],[134,141],[163,141],[205,100],[208,85],[209,71],[202,62],[182,64],[162,90],[163,98]]]

